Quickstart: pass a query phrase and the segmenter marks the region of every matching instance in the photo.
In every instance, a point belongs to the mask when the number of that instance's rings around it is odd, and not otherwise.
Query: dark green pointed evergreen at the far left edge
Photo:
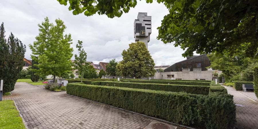
[[[11,33],[5,39],[5,28],[0,26],[0,80],[3,80],[3,93],[13,91],[14,85],[24,66],[26,46]]]

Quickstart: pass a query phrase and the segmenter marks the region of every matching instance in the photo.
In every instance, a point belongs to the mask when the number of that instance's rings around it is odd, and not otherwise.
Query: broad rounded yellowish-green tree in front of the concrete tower
[[[133,42],[127,50],[122,52],[123,60],[117,65],[119,75],[124,77],[150,77],[154,76],[155,63],[144,42]]]

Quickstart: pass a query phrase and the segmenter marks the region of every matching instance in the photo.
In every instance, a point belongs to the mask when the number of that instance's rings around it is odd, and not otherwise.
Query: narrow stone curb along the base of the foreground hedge
[[[91,101],[91,102],[95,102],[95,103],[99,103],[99,104],[103,104],[103,105],[106,105],[106,106],[109,106],[109,107],[116,108],[116,109],[118,109],[118,110],[122,110],[122,111],[125,111],[125,112],[130,112],[130,113],[132,113],[132,114],[137,114],[137,115],[140,115],[140,116],[144,116],[144,117],[147,117],[147,118],[150,118],[150,119],[159,121],[159,122],[163,122],[163,123],[166,123],[166,124],[171,124],[171,125],[173,125],[173,126],[183,127],[183,128],[187,128],[187,129],[195,129],[195,128],[191,128],[191,127],[188,127],[188,126],[184,126],[184,125],[172,123],[172,122],[169,122],[169,121],[166,121],[166,120],[162,120],[162,119],[159,119],[159,118],[155,118],[155,117],[147,116],[147,115],[144,115],[144,114],[140,114],[140,113],[137,113],[137,112],[125,110],[125,109],[122,109],[122,108],[119,108],[119,107],[114,107],[114,106],[107,105],[107,104],[104,104],[104,103],[100,103],[100,102],[92,101],[92,100],[89,100],[89,99],[77,97],[77,96],[74,96],[74,95],[69,95],[69,94],[66,94],[66,95],[71,96],[71,97],[76,97],[76,98],[79,98],[79,99],[83,99],[83,100],[87,100],[87,101]]]

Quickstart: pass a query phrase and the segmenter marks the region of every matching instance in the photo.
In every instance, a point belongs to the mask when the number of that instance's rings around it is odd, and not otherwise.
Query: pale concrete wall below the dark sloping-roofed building
[[[174,75],[174,77],[167,77],[167,75]],[[201,71],[201,68],[193,68],[193,71],[182,69],[182,72],[155,73],[155,79],[212,80],[212,71]]]

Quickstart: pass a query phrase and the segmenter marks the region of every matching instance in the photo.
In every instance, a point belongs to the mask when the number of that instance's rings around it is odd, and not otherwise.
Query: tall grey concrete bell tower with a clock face
[[[138,13],[137,19],[134,20],[134,39],[135,41],[144,42],[148,49],[151,34],[151,16],[147,13]]]

